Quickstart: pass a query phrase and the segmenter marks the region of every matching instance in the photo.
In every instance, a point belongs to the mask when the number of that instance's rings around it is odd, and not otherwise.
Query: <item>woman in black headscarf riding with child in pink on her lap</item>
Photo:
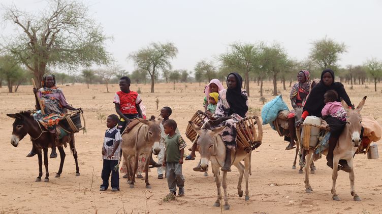
[[[321,81],[311,90],[309,97],[305,102],[301,119],[296,122],[296,126],[300,126],[304,119],[309,115],[322,117],[321,111],[325,106],[324,94],[329,90],[334,90],[338,93],[337,101],[340,102],[340,98],[342,98],[348,106],[352,106],[352,102],[350,101],[343,84],[341,82],[335,82],[334,77],[334,72],[331,69],[325,69],[321,73]],[[346,122],[330,116],[325,118],[325,120],[330,126],[329,150],[326,159],[328,161],[327,165],[333,168],[333,151]],[[339,164],[341,164],[341,167],[338,167],[339,169],[343,169],[346,172],[350,169],[346,160],[340,160]]]

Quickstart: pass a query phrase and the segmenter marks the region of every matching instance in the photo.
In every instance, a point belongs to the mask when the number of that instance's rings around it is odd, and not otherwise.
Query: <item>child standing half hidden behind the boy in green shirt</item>
[[[159,141],[161,151],[156,156],[158,158],[158,163],[162,163],[163,159],[165,158],[167,134],[165,133],[165,128],[163,127],[163,124],[165,124],[165,122],[169,119],[171,114],[172,114],[172,109],[170,107],[165,106],[161,109],[161,116],[163,119],[162,119],[162,122],[159,124],[162,132],[161,132],[161,140]],[[175,133],[180,135],[178,128],[175,129]],[[158,167],[157,169],[158,179],[163,179],[164,170],[165,170],[165,167],[163,166]]]

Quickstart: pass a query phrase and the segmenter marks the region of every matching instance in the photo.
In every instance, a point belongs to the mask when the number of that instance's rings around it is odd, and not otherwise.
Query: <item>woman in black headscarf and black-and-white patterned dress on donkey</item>
[[[221,132],[221,139],[227,146],[226,161],[221,168],[231,171],[231,150],[236,150],[236,122],[245,118],[248,111],[247,92],[241,90],[243,78],[238,73],[230,73],[227,77],[227,88],[219,92],[213,126],[226,125]]]

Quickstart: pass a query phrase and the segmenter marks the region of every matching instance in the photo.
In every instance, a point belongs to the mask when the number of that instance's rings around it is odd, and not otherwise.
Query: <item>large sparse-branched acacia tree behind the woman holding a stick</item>
[[[88,16],[88,8],[76,0],[47,0],[48,7],[35,14],[5,8],[4,20],[15,25],[17,34],[1,46],[25,65],[38,87],[47,66],[74,70],[78,65],[107,64],[108,39],[101,26]]]

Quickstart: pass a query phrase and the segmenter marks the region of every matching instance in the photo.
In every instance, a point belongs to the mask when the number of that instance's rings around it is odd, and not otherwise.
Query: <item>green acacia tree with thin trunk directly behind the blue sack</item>
[[[275,43],[271,46],[263,46],[262,67],[266,70],[273,79],[273,96],[277,95],[277,75],[288,69],[290,60],[285,50],[280,44]]]

